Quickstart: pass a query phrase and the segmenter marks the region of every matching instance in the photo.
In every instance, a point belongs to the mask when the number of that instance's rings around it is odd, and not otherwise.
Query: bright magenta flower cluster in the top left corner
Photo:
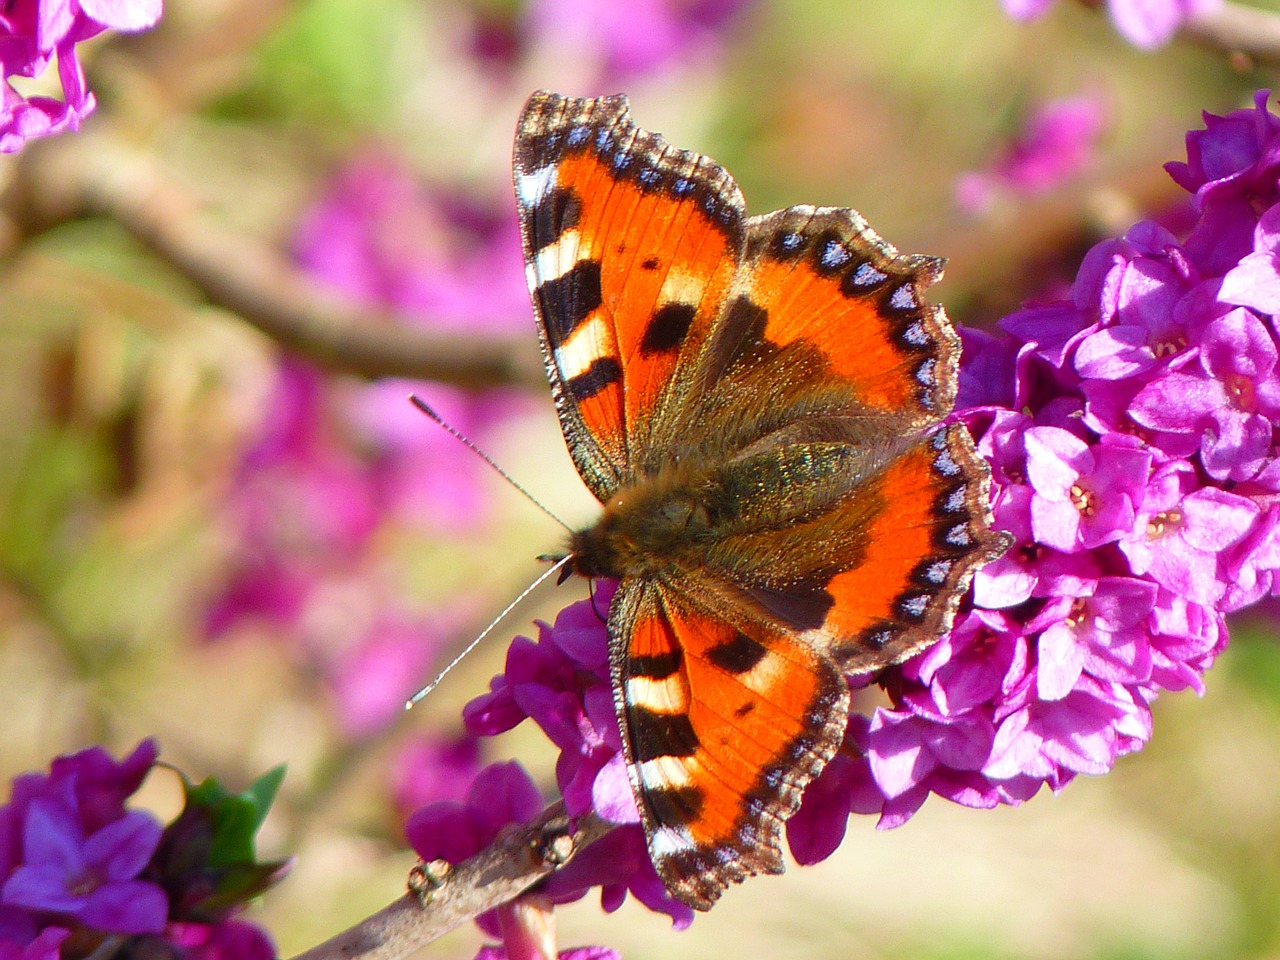
[[[160,19],[163,0],[10,0],[0,4],[0,152],[33,137],[78,129],[93,111],[93,95],[76,52],[105,29],[140,31]],[[56,58],[63,99],[23,96],[13,77],[40,77]]]

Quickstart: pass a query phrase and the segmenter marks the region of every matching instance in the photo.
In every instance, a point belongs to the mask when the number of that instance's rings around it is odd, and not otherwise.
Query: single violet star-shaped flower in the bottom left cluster
[[[22,864],[4,882],[0,901],[111,933],[159,933],[169,901],[137,877],[160,842],[160,824],[128,812],[88,833],[74,787],[68,777],[27,805]]]

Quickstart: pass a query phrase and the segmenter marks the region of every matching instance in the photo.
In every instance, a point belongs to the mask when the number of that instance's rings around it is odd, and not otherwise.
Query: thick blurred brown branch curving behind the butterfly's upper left
[[[152,157],[101,125],[33,146],[38,148],[22,166],[27,183],[20,196],[29,209],[59,211],[59,219],[86,212],[111,218],[211,303],[324,366],[466,388],[545,389],[532,335],[428,330],[332,296],[279,251],[219,224]]]

